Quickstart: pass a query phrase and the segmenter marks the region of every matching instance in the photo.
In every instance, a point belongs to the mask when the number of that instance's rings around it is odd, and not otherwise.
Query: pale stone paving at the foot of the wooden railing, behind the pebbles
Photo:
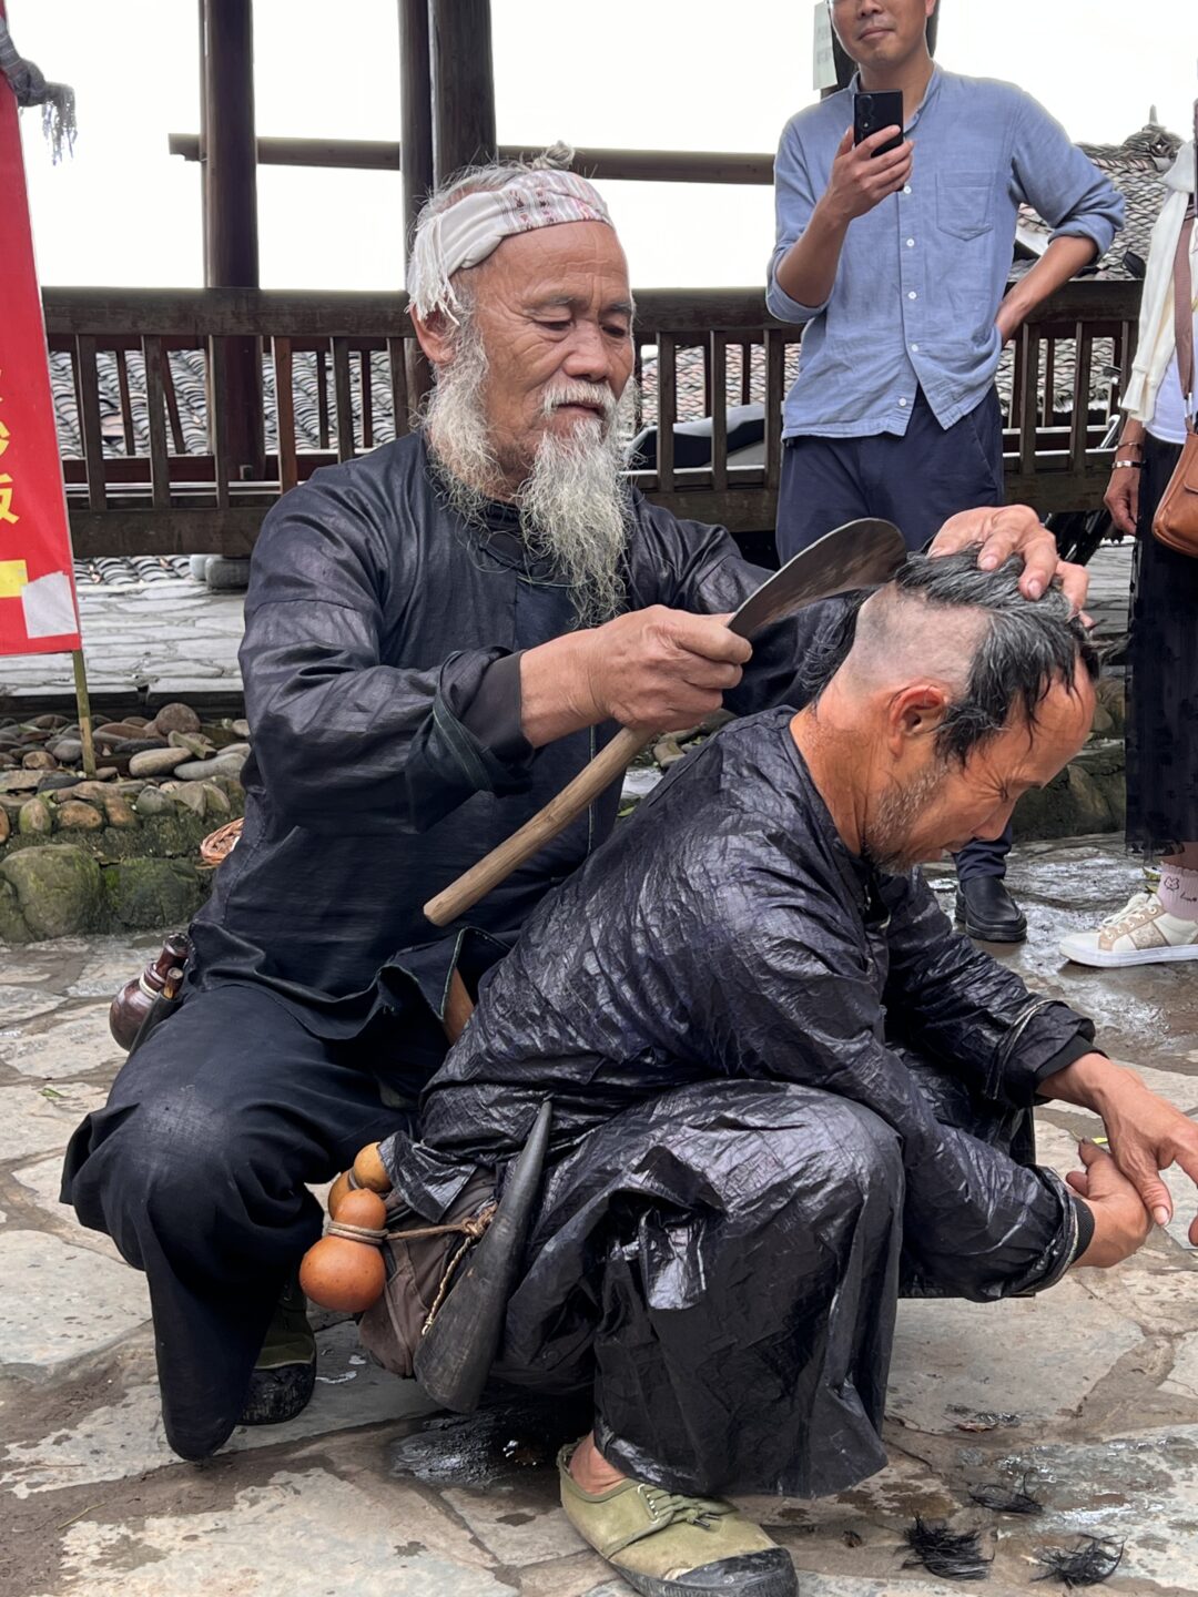
[[[1104,545],[1088,569],[1096,636],[1110,640],[1126,626],[1131,543]],[[212,594],[184,575],[139,581],[133,569],[125,583],[81,583],[83,652],[93,701],[105,712],[125,714],[139,703],[158,706],[177,698],[224,703],[240,695],[243,597]],[[69,655],[0,658],[0,712],[32,703],[56,709],[72,693]],[[220,712],[230,714],[224,707]]]

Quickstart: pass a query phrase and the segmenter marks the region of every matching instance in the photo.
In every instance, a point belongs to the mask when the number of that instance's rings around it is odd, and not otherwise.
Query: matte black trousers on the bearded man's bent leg
[[[404,1124],[379,1020],[313,1035],[270,993],[190,995],[125,1064],[67,1150],[62,1201],[144,1270],[166,1439],[206,1458],[233,1431],[278,1295],[321,1233],[307,1183]]]

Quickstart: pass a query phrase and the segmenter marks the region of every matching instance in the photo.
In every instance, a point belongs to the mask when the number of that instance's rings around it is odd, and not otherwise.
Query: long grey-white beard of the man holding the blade
[[[473,522],[482,521],[503,481],[482,406],[486,375],[482,340],[465,327],[454,361],[438,374],[425,422],[446,495]],[[578,626],[610,620],[625,602],[629,495],[618,418],[615,412],[583,422],[569,438],[546,434],[514,497],[526,548],[561,572]]]

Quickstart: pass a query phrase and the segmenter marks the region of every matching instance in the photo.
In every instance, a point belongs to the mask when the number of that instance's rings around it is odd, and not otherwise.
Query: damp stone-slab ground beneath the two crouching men
[[[1198,1113],[1190,968],[1099,974],[1054,952],[1137,875],[1107,838],[1022,848],[1011,880],[1032,934],[1003,957]],[[433,1415],[347,1322],[319,1330],[299,1420],[240,1431],[204,1466],[168,1452],[142,1278],[56,1203],[67,1135],[120,1064],[109,997],[149,949],[61,941],[0,960],[0,1594],[623,1594],[556,1506],[553,1447],[570,1415]],[[1059,1169],[1096,1129],[1065,1107],[1040,1123]],[[1188,1219],[1196,1195],[1180,1180],[1176,1195]],[[1075,1273],[1043,1298],[902,1305],[888,1407],[882,1474],[835,1500],[752,1503],[805,1597],[954,1591],[904,1567],[915,1514],[981,1532],[995,1597],[1062,1591],[1032,1584],[1035,1557],[1081,1533],[1126,1543],[1102,1589],[1198,1594],[1198,1258],[1180,1219],[1120,1270]],[[982,1485],[1022,1485],[1043,1512],[979,1508]]]

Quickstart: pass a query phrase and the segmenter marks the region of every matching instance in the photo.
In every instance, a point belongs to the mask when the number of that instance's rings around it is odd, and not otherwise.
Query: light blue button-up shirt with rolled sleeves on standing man
[[[784,438],[902,434],[918,388],[952,426],[994,382],[1019,203],[1030,201],[1054,238],[1093,238],[1099,254],[1123,222],[1123,196],[1030,94],[936,67],[906,129],[909,184],[848,224],[832,294],[800,305],[778,286],[778,262],[827,188],[856,88],[792,117],[773,168],[778,244],[765,302],[781,321],[808,324]]]

